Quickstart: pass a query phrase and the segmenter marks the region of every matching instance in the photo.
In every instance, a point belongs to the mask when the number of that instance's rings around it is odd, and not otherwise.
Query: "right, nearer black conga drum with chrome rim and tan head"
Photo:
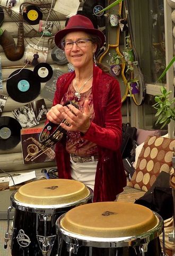
[[[58,256],[161,256],[163,219],[143,205],[80,205],[56,221]]]

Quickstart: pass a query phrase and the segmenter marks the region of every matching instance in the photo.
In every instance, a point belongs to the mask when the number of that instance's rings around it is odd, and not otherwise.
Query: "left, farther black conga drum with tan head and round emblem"
[[[15,208],[12,256],[55,256],[56,220],[77,205],[92,202],[92,189],[69,179],[33,181],[11,196]]]

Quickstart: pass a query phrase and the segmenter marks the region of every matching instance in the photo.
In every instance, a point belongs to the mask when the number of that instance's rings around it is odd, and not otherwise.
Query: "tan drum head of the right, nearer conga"
[[[153,211],[125,202],[80,205],[66,212],[60,226],[68,232],[91,237],[128,237],[147,232],[158,224]]]

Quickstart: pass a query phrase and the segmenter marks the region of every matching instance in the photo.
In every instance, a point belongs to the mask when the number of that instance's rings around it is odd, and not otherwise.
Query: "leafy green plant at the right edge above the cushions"
[[[164,86],[160,87],[160,91],[161,94],[154,97],[156,103],[153,105],[153,108],[157,110],[155,117],[158,117],[155,125],[160,123],[162,129],[164,126],[168,125],[171,120],[175,121],[175,97],[170,100],[169,96],[172,91],[167,92]]]

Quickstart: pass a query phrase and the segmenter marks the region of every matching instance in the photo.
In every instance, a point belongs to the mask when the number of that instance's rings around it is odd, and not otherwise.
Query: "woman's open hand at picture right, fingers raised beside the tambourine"
[[[71,126],[66,126],[64,123],[60,123],[62,128],[66,131],[80,131],[81,133],[86,133],[86,131],[88,131],[91,125],[88,100],[85,100],[84,102],[83,113],[71,104],[64,106],[64,110],[65,113],[63,112],[62,115]]]

